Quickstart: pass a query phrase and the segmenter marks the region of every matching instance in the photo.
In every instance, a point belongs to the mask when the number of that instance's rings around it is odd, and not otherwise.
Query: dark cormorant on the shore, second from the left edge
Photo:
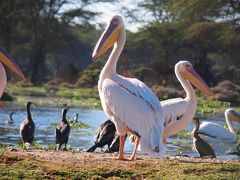
[[[62,120],[58,123],[56,127],[56,144],[57,144],[57,151],[61,148],[62,144],[65,144],[64,150],[67,150],[67,143],[70,134],[70,126],[66,119],[68,109],[62,109]]]

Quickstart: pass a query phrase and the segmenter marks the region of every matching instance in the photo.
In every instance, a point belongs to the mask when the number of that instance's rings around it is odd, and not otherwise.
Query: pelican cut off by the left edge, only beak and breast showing
[[[18,76],[25,79],[21,69],[18,67],[18,65],[14,62],[14,60],[7,54],[7,52],[3,48],[0,48],[0,61],[4,65],[6,65],[10,70],[16,73]],[[6,72],[1,62],[0,62],[0,97],[2,96],[7,85]]]

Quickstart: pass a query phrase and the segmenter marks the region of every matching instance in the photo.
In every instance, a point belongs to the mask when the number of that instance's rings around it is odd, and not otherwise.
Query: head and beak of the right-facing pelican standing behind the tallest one
[[[213,96],[213,92],[210,90],[204,80],[193,69],[193,66],[188,61],[179,61],[175,65],[176,74],[180,74],[184,79],[190,81],[196,88],[202,91],[207,96]]]

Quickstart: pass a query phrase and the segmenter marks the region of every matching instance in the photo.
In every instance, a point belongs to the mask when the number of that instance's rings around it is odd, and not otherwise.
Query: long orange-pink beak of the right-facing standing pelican
[[[198,75],[198,73],[193,69],[193,67],[186,67],[186,71],[181,72],[182,76],[189,80],[196,88],[202,91],[207,96],[213,96],[213,92],[204,82],[204,80]]]

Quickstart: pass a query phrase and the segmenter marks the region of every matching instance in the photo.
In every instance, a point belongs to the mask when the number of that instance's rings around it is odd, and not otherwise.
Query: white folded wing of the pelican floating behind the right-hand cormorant
[[[236,142],[237,137],[220,124],[202,122],[198,134],[209,142]]]

